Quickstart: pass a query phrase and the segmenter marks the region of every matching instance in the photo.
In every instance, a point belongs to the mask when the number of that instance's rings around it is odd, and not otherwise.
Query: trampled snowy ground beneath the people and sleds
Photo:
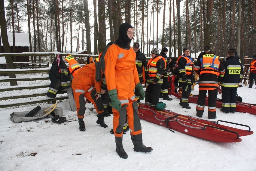
[[[243,102],[255,104],[255,86],[250,89],[242,85],[238,95]],[[198,94],[197,85],[192,93]],[[172,101],[164,101],[167,109],[196,117],[196,104],[190,104],[190,110],[183,109],[178,105],[179,100],[172,98]],[[13,111],[28,111],[34,107],[0,111],[0,170],[256,170],[256,133],[241,137],[239,143],[216,143],[177,131],[173,133],[141,120],[143,142],[153,151],[149,154],[134,152],[127,132],[123,135],[123,146],[129,157],[122,159],[115,152],[114,135],[109,133],[112,116],[105,118],[108,128],[102,128],[96,123],[96,111],[89,110],[92,104],[87,104],[86,131],[80,132],[76,112],[70,110],[69,103],[58,106],[63,108],[63,115],[69,122],[58,125],[44,118],[13,123],[10,121]],[[207,108],[203,119],[207,119]],[[217,119],[245,124],[256,131],[256,115],[253,114],[224,114],[217,108]]]

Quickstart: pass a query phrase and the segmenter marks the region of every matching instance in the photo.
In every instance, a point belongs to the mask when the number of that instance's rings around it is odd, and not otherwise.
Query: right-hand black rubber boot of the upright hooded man
[[[142,134],[131,135],[131,138],[134,145],[133,149],[135,152],[149,153],[153,150],[153,148],[146,147],[144,144],[142,144]]]

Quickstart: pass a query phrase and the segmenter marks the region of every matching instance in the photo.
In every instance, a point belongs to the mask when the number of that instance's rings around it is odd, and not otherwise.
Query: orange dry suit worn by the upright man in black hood
[[[123,125],[127,120],[131,135],[142,134],[138,116],[138,104],[134,96],[135,85],[139,81],[136,70],[136,53],[129,48],[120,48],[115,43],[108,47],[105,54],[105,77],[108,91],[117,90],[121,106],[128,105],[124,113],[113,108],[113,129],[116,137],[122,137]],[[123,111],[123,110],[122,110]]]

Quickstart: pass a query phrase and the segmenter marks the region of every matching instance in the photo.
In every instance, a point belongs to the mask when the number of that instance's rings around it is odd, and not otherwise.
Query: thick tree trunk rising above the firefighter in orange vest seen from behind
[[[204,32],[205,45],[211,47],[211,23],[212,23],[213,0],[206,1],[206,27]],[[224,28],[223,28],[224,29]]]

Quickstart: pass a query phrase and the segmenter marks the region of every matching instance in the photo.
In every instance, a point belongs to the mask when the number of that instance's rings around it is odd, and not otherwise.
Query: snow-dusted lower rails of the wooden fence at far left
[[[0,110],[3,108],[42,105],[55,103],[68,99],[66,89],[60,91],[56,98],[48,98],[47,92],[50,86],[48,73],[50,68],[44,69],[0,69],[2,74],[16,74],[17,78],[0,79]],[[17,81],[18,85],[10,86],[11,81]]]

